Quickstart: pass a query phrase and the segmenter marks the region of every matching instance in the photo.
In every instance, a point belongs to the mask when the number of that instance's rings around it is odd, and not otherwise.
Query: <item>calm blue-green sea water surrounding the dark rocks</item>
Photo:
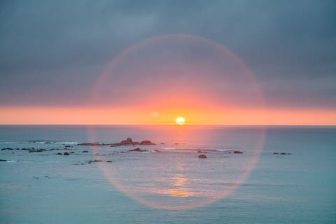
[[[127,137],[156,145],[78,146]],[[336,223],[335,127],[0,126],[0,148],[0,223]]]

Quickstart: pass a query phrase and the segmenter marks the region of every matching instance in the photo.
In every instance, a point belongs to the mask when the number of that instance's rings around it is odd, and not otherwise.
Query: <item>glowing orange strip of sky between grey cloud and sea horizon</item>
[[[1,125],[167,125],[180,114],[194,125],[336,125],[336,110],[1,107]]]

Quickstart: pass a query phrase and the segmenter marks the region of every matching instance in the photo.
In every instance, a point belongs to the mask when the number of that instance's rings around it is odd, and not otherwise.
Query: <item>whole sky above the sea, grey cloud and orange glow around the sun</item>
[[[0,123],[336,125],[335,27],[327,0],[1,1]]]

